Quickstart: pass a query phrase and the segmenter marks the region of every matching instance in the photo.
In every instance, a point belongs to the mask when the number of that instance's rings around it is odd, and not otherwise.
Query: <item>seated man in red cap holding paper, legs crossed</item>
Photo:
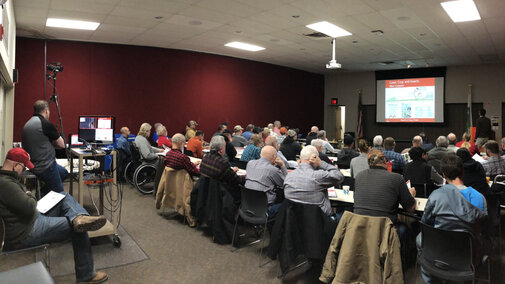
[[[0,217],[5,222],[5,240],[2,240],[5,247],[17,249],[71,239],[77,282],[106,281],[105,272],[95,272],[87,233],[103,227],[105,217],[89,216],[66,192],[61,192],[65,197],[54,208],[45,215],[39,213],[34,193],[18,180],[25,167],[33,169],[30,156],[21,148],[13,148],[0,170]]]

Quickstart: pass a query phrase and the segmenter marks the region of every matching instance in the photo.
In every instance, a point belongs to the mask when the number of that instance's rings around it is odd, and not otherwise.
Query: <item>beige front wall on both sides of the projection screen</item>
[[[445,102],[466,103],[468,84],[472,84],[472,102],[483,103],[488,117],[499,116],[497,139],[501,133],[501,105],[505,102],[505,64],[447,67]],[[346,106],[346,131],[356,131],[358,90],[362,90],[362,103],[375,104],[375,72],[349,72],[325,76],[324,128],[334,129],[334,107],[331,98],[338,98]],[[464,117],[463,117],[464,119]],[[474,118],[475,122],[475,118]],[[331,131],[328,131],[329,138]]]

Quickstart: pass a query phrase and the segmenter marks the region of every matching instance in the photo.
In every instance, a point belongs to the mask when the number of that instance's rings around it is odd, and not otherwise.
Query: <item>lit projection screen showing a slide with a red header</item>
[[[377,81],[377,122],[444,122],[444,78]]]

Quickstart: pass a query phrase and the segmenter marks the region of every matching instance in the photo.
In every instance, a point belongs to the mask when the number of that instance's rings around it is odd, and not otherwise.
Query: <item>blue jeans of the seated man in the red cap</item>
[[[65,198],[60,203],[45,215],[39,213],[31,232],[21,243],[24,246],[37,246],[71,239],[77,281],[86,281],[95,275],[91,242],[87,232],[74,232],[72,221],[79,215],[89,214],[68,193],[62,194]]]

